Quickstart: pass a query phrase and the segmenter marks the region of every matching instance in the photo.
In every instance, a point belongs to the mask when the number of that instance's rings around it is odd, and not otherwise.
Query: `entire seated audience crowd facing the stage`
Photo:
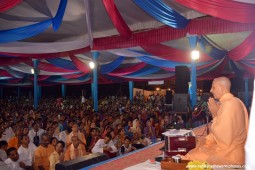
[[[162,138],[172,116],[163,97],[109,97],[92,100],[41,99],[37,110],[28,99],[0,100],[0,169],[55,169],[90,153],[109,158],[146,147]]]

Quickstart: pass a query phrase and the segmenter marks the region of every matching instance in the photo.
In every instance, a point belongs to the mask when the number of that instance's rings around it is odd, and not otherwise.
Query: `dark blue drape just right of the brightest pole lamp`
[[[202,48],[202,50],[208,54],[210,57],[212,57],[215,60],[220,60],[223,57],[226,56],[227,52],[224,50],[220,50],[212,45],[207,39],[205,39],[203,36],[201,37],[199,44]]]

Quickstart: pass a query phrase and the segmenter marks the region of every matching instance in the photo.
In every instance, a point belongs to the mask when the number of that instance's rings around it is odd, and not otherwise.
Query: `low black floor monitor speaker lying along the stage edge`
[[[108,159],[108,156],[103,153],[92,153],[71,161],[65,161],[58,163],[55,166],[55,170],[77,170],[87,167],[98,162],[102,162]]]

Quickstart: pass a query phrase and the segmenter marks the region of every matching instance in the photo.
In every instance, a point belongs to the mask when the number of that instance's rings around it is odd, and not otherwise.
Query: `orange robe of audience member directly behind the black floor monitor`
[[[73,160],[79,157],[86,155],[86,150],[84,145],[79,144],[77,148],[74,148],[73,144],[71,144],[65,152],[64,161]]]

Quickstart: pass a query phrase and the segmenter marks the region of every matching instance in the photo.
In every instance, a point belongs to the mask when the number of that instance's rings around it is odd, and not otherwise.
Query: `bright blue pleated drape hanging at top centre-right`
[[[134,3],[142,8],[156,20],[173,28],[185,28],[189,20],[174,11],[161,0],[133,0]]]

